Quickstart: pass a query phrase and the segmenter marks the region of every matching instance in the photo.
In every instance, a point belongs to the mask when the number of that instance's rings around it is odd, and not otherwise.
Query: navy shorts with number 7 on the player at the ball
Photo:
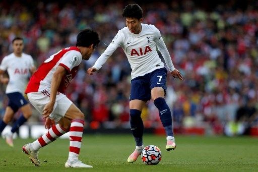
[[[148,101],[151,99],[151,90],[154,87],[162,87],[166,93],[167,86],[167,69],[161,68],[145,74],[144,76],[136,77],[131,81],[130,100]]]

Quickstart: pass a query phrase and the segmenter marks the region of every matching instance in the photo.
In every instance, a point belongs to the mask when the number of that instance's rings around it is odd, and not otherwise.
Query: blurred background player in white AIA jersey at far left
[[[0,81],[3,84],[7,84],[6,94],[9,98],[4,118],[0,120],[0,134],[14,118],[14,114],[20,109],[22,111],[21,116],[14,123],[11,131],[3,135],[7,144],[13,147],[13,134],[32,115],[31,106],[28,104],[23,94],[30,73],[34,73],[36,68],[31,55],[23,53],[23,39],[16,37],[13,39],[12,43],[14,52],[5,56],[0,65]],[[5,71],[8,72],[9,78],[3,76]]]

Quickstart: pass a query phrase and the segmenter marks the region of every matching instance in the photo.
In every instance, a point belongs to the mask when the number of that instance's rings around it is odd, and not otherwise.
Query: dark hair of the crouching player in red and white
[[[85,29],[77,35],[76,46],[89,47],[93,44],[93,48],[99,44],[99,35],[92,29]]]

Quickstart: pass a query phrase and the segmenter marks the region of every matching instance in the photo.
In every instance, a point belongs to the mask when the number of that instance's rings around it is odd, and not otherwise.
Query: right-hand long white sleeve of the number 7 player
[[[172,63],[171,56],[167,50],[166,44],[160,34],[159,29],[157,29],[155,26],[154,26],[154,41],[156,42],[156,45],[161,55],[163,56],[163,59],[165,60],[165,63],[168,67],[169,72],[172,72],[173,70],[175,70],[175,67]]]

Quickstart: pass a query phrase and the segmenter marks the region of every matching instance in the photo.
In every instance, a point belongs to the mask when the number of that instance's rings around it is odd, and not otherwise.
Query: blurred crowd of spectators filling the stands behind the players
[[[183,81],[171,76],[167,80],[166,100],[173,111],[175,127],[205,124],[213,134],[225,131],[227,135],[236,135],[257,126],[258,2],[239,2],[137,2],[143,8],[144,23],[161,31],[173,64],[184,77]],[[117,31],[125,27],[121,13],[127,4],[1,1],[0,59],[12,52],[12,39],[21,36],[24,52],[31,54],[38,66],[61,48],[75,45],[80,30],[96,30],[101,43],[91,59],[81,64],[67,95],[84,112],[91,128],[104,124],[121,127],[129,120],[131,87],[131,68],[123,50],[117,49],[94,75],[89,76],[86,70]],[[3,116],[7,105],[4,85],[0,99]],[[152,101],[147,103],[142,117],[146,126],[160,125]],[[35,116],[34,120],[40,121],[41,117]]]

